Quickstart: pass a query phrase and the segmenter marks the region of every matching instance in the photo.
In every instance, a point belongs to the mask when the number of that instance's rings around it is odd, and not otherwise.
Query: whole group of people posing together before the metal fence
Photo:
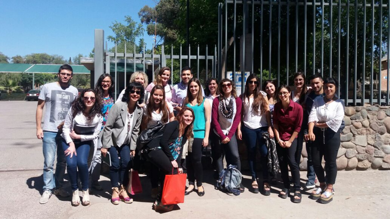
[[[85,89],[80,95],[69,84],[72,77],[71,66],[62,65],[58,82],[45,84],[39,95],[37,138],[43,139],[44,154],[40,203],[48,202],[52,193],[70,196],[62,187],[66,167],[73,191],[72,205],[89,205],[89,190],[103,190],[99,185],[102,156],[111,159],[111,202],[115,205],[121,201],[131,203],[133,199],[126,191],[129,166],[142,156],[151,163],[148,175],[151,195],[156,199],[153,208],[170,211],[172,205],[161,203],[165,175],[186,172],[188,187],[184,194],[197,191],[199,196],[204,196],[201,160],[204,147],[211,146],[216,174],[223,170],[223,158],[227,165],[235,165],[241,172],[237,139],[244,140],[247,147],[252,174],[250,191],[259,193],[256,170],[259,150],[261,193],[270,195],[280,168],[284,186],[279,196],[287,198],[292,183],[292,200],[300,203],[299,163],[303,142],[306,142],[308,182],[304,189],[314,188],[318,179],[320,184],[312,191],[312,198],[323,203],[333,198],[344,116],[344,103],[335,95],[339,86],[335,79],[323,80],[321,75],[312,75],[308,89],[305,75],[297,72],[293,87],[276,88],[274,81],[261,85],[259,77],[251,74],[246,79],[244,93],[238,96],[230,79],[218,82],[209,78],[203,89],[189,67],[181,70],[181,82],[171,86],[168,84],[171,70],[162,67],[150,84],[144,72],[134,72],[115,102],[111,75],[102,74],[95,89]],[[158,137],[139,147],[140,133],[158,123],[165,124],[157,133]],[[57,166],[53,174],[55,154]],[[325,168],[321,165],[323,158]],[[269,168],[270,160],[273,160],[272,168]],[[245,187],[240,184],[239,190],[244,192]]]

